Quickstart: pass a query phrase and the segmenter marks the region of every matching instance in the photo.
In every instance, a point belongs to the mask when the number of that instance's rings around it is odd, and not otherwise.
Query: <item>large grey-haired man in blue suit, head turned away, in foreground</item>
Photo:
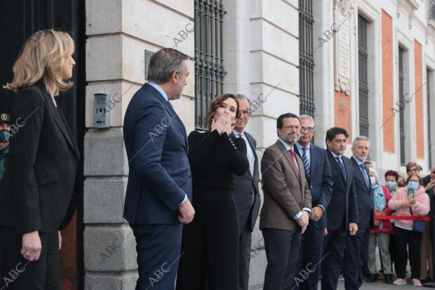
[[[123,217],[136,239],[136,290],[175,289],[182,223],[194,218],[185,126],[168,100],[180,98],[187,55],[171,48],[149,62],[148,83],[133,95],[124,118],[128,185]]]

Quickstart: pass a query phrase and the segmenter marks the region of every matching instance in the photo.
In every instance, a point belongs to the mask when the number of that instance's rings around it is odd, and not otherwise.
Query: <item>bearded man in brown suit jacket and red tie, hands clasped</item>
[[[304,164],[293,148],[300,137],[299,119],[295,114],[282,114],[276,131],[279,139],[266,149],[261,161],[265,203],[260,230],[267,257],[264,290],[291,288],[302,233],[311,213]]]

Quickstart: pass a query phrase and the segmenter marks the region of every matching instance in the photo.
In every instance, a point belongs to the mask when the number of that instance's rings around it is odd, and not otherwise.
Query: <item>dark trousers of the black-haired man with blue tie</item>
[[[344,226],[337,230],[328,230],[325,237],[325,249],[323,250],[322,290],[337,289],[338,276],[342,270],[344,247],[346,246],[347,231]]]

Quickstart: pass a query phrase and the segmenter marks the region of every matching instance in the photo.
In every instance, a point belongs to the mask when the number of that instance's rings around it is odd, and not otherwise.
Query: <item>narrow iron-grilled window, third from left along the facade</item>
[[[358,16],[359,135],[368,137],[367,20]]]

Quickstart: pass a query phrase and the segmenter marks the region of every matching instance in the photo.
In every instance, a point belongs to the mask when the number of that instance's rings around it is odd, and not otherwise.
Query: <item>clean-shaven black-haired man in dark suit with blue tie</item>
[[[334,180],[333,193],[326,209],[327,232],[322,261],[322,290],[337,289],[342,269],[347,231],[358,232],[358,205],[354,185],[354,166],[344,157],[349,134],[344,128],[333,127],[326,131],[326,146]]]

